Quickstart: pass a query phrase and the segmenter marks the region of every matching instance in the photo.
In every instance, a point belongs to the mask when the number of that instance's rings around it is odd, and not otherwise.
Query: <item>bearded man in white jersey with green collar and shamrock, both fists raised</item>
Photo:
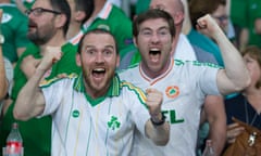
[[[52,156],[127,156],[135,127],[157,145],[167,143],[162,93],[150,88],[145,94],[119,79],[120,57],[109,31],[95,29],[82,38],[76,55],[83,67],[79,76],[41,81],[61,57],[59,51],[47,52],[14,108],[15,118],[23,120],[52,115]]]

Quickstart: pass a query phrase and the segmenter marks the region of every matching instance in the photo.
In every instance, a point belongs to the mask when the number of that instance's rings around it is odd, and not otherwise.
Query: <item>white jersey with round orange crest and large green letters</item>
[[[209,63],[172,60],[167,70],[151,79],[139,65],[120,73],[123,80],[146,90],[163,93],[162,112],[171,125],[170,141],[156,146],[139,132],[135,133],[132,156],[195,156],[200,109],[206,94],[220,94],[217,66]]]

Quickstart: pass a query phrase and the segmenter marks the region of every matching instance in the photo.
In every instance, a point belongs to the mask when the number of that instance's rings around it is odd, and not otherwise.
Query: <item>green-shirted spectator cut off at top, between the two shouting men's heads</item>
[[[130,18],[120,8],[107,0],[95,0],[95,11],[84,24],[85,30],[94,28],[103,28],[113,34],[120,49],[120,57],[128,52],[125,49],[134,48]]]

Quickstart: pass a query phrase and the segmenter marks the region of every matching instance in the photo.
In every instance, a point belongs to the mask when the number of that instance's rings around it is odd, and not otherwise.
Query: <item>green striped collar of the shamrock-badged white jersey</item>
[[[121,81],[119,79],[119,76],[115,75],[111,81],[109,91],[107,92],[105,95],[100,96],[98,99],[92,99],[90,95],[85,91],[85,86],[84,86],[84,77],[83,73],[75,79],[74,81],[74,90],[82,92],[85,94],[87,101],[90,103],[91,106],[96,106],[102,101],[105,100],[105,98],[112,98],[112,96],[119,96],[120,91],[121,91]]]

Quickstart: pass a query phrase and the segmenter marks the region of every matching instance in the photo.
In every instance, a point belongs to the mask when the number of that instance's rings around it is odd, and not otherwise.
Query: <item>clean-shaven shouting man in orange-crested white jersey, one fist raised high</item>
[[[200,109],[206,95],[239,91],[250,82],[243,57],[214,20],[206,15],[198,25],[219,43],[224,69],[208,63],[172,58],[175,28],[169,13],[151,9],[134,20],[134,42],[141,62],[121,73],[120,77],[144,90],[156,88],[162,91],[162,112],[171,123],[170,141],[163,147],[151,144],[137,132],[134,156],[195,156]]]

